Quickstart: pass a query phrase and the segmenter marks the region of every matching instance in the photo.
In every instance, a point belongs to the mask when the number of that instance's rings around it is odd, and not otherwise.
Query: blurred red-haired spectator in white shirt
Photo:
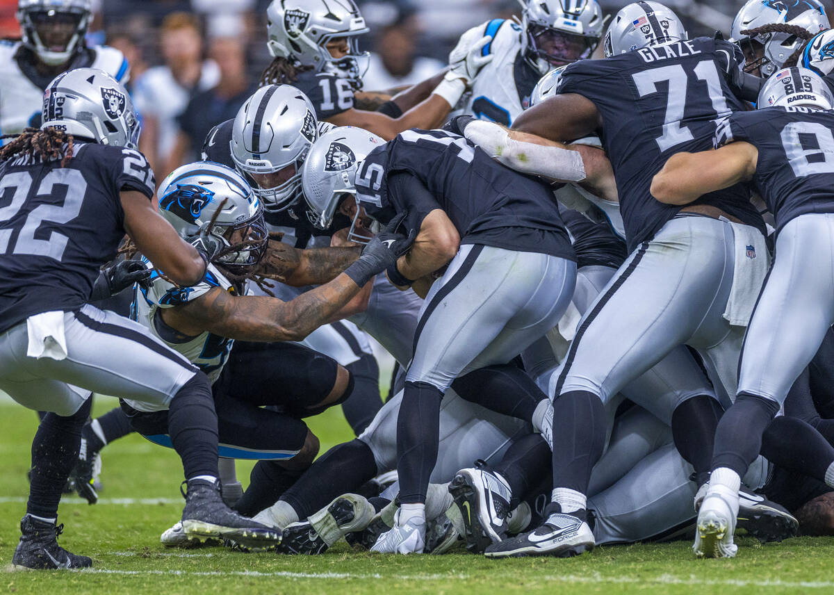
[[[202,34],[192,15],[169,14],[159,33],[165,65],[149,68],[137,80],[133,103],[143,118],[139,149],[162,179],[177,139],[177,117],[195,93],[217,85],[220,73],[213,60],[202,60]]]

